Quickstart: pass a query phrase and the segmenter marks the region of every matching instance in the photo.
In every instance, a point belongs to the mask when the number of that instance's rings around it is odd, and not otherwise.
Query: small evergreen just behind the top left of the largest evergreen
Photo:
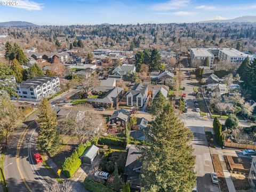
[[[158,116],[159,114],[162,113],[163,106],[165,105],[165,103],[166,103],[166,99],[165,99],[164,95],[162,94],[162,92],[159,91],[156,94],[155,98],[153,99],[152,104],[149,107],[150,113],[155,116]]]

